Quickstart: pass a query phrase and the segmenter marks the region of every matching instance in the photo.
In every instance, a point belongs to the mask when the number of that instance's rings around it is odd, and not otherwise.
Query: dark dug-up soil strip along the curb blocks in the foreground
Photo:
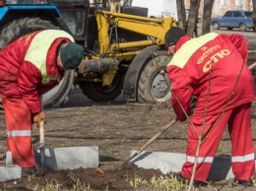
[[[121,168],[103,170],[102,168],[78,168],[73,170],[48,170],[44,175],[23,177],[19,180],[0,184],[0,190],[42,190],[45,185],[59,184],[59,190],[72,190],[74,185],[85,185],[92,190],[134,190],[127,181],[139,176],[150,180],[153,176],[163,175],[159,170],[144,169],[133,163],[127,163]],[[164,176],[164,175],[163,175]],[[51,190],[51,189],[50,189]],[[52,189],[53,190],[53,189]]]

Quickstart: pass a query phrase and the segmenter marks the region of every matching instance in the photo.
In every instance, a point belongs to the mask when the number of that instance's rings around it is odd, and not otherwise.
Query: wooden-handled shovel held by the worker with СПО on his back
[[[162,133],[164,133],[167,129],[169,129],[172,125],[174,125],[177,122],[177,118],[172,119],[168,124],[166,124],[159,133],[157,133],[153,138],[150,139],[144,146],[142,146],[131,158],[126,159],[123,163],[126,163],[130,161],[131,159],[134,159],[136,156],[141,154],[149,145],[151,145],[157,138],[160,137]]]

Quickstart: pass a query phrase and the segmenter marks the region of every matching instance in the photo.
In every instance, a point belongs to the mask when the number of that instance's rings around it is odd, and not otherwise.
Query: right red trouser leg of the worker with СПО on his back
[[[228,122],[232,141],[232,171],[237,180],[255,174],[254,145],[251,129],[251,103],[235,108]]]

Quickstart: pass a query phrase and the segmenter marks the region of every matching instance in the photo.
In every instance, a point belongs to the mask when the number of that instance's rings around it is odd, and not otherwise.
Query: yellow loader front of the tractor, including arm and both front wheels
[[[168,100],[170,82],[165,67],[170,56],[164,49],[164,34],[176,26],[175,20],[147,18],[146,8],[120,10],[122,13],[96,9],[91,18],[96,35],[89,35],[94,44],[88,44],[91,49],[76,83],[84,95],[96,101],[111,100],[121,93],[130,101]]]

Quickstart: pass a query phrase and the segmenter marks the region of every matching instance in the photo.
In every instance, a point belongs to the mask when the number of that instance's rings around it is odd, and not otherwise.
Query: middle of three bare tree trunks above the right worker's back
[[[190,11],[188,16],[187,34],[193,36],[195,30],[197,30],[198,22],[198,10],[201,0],[190,0]]]

